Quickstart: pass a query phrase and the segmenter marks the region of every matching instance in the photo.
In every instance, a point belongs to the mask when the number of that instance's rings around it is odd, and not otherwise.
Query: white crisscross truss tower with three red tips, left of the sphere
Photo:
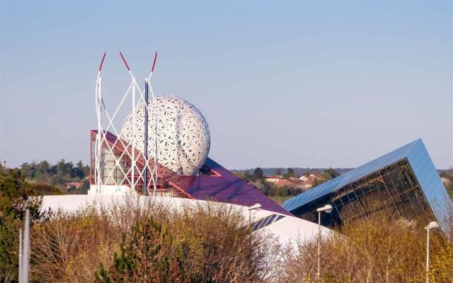
[[[140,192],[140,190],[143,189],[144,195],[147,195],[149,192],[149,187],[152,186],[153,194],[155,195],[158,172],[157,163],[154,161],[157,160],[157,156],[159,154],[157,145],[154,144],[154,151],[151,151],[150,156],[148,156],[147,151],[141,152],[137,150],[134,146],[133,141],[126,142],[120,138],[122,137],[122,129],[120,131],[117,130],[114,120],[115,117],[117,117],[118,112],[120,112],[122,108],[127,107],[125,106],[127,100],[130,100],[132,105],[131,115],[135,115],[137,107],[139,107],[139,105],[144,105],[144,112],[145,115],[147,115],[149,107],[148,90],[151,92],[151,99],[153,99],[154,101],[156,100],[153,88],[151,86],[151,76],[154,73],[157,52],[154,55],[154,62],[152,64],[149,76],[144,80],[145,84],[143,89],[138,86],[134,74],[132,74],[132,71],[126,62],[125,57],[120,52],[120,57],[125,63],[125,67],[130,74],[131,82],[129,84],[129,87],[127,88],[126,93],[124,94],[124,96],[122,96],[120,103],[117,105],[117,107],[113,111],[113,114],[111,115],[108,109],[105,107],[102,91],[101,70],[103,67],[105,54],[106,53],[103,54],[103,58],[98,69],[98,78],[96,80],[96,116],[98,119],[98,132],[96,134],[96,141],[94,146],[95,170],[93,176],[93,180],[96,184],[96,193],[101,193],[101,186],[112,185],[112,183],[109,182],[113,180],[113,185],[116,187],[115,190],[120,190],[120,187],[127,186],[132,190],[135,190],[136,192]],[[156,105],[156,103],[152,103],[152,105]],[[132,119],[132,121],[135,121],[135,119]],[[147,123],[147,121],[148,119],[146,117],[146,119],[144,119],[144,122]],[[156,116],[155,131],[157,131],[157,122],[158,117]],[[107,126],[104,127],[104,125]],[[136,125],[134,125],[133,122],[132,129],[134,129],[134,127],[136,127]],[[148,129],[146,124],[145,129]],[[108,132],[112,132],[118,137],[111,145],[106,137]],[[144,139],[145,149],[148,146],[147,142],[147,139]],[[117,145],[120,145],[122,149],[124,149],[119,156],[115,154]],[[112,161],[113,166],[109,166],[108,163],[112,163]],[[125,166],[125,164],[129,162],[130,166]],[[114,174],[114,172],[118,170],[121,172],[122,178],[117,178],[117,176]]]

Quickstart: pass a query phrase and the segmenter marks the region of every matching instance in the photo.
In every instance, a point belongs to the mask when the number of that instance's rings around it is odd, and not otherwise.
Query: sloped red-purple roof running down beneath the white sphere
[[[97,134],[98,131],[91,130],[91,132]],[[117,150],[124,151],[122,144],[127,144],[124,140],[122,143],[115,143],[117,137],[108,131],[105,131],[105,139],[110,144],[115,144]],[[128,150],[130,151],[130,148]],[[139,159],[139,162],[143,163],[143,158]],[[161,177],[168,178],[168,182],[171,185],[178,187],[179,190],[183,190],[188,196],[196,200],[212,200],[214,202],[226,202],[247,207],[259,203],[263,206],[263,209],[271,212],[292,215],[279,204],[270,200],[269,197],[266,197],[256,187],[236,177],[236,175],[211,158],[207,158],[205,166],[214,171],[216,175],[178,175],[160,163],[157,163],[157,166],[157,171]]]

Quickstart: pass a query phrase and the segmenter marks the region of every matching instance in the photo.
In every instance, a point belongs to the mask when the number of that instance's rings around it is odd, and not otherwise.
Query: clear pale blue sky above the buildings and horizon
[[[164,3],[163,3],[164,2]],[[227,168],[355,167],[418,137],[453,166],[451,1],[1,1],[0,159],[88,161],[106,103],[154,90],[205,115]],[[118,125],[120,127],[120,125]]]

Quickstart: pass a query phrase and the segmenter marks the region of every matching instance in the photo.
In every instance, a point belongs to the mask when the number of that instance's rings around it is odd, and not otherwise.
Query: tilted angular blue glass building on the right
[[[292,197],[283,207],[292,214],[317,222],[316,209],[331,204],[321,224],[335,227],[343,221],[386,212],[394,218],[439,222],[444,232],[452,208],[447,190],[421,139]]]

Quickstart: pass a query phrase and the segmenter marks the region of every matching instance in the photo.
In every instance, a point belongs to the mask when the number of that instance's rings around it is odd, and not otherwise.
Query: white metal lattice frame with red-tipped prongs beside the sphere
[[[151,168],[149,166],[151,160],[157,160],[158,158],[158,152],[156,150],[151,151],[151,154],[148,155],[148,158],[145,159],[143,154],[140,154],[139,151],[136,149],[136,143],[132,141],[125,142],[123,141],[120,137],[122,137],[122,132],[118,132],[113,120],[115,120],[115,117],[122,108],[122,106],[125,104],[126,99],[129,97],[132,100],[132,112],[131,115],[134,117],[135,113],[137,112],[137,107],[139,105],[142,105],[140,107],[144,107],[148,110],[148,106],[145,103],[144,99],[144,90],[142,91],[141,88],[137,85],[137,80],[135,79],[134,75],[132,74],[132,71],[130,70],[130,67],[127,65],[127,62],[125,58],[122,56],[122,53],[120,52],[120,56],[122,57],[123,62],[125,63],[125,66],[127,68],[127,71],[129,72],[131,76],[131,83],[129,88],[127,88],[127,91],[125,95],[122,97],[122,100],[120,101],[119,105],[117,105],[117,108],[115,109],[115,112],[113,112],[113,115],[110,115],[107,108],[105,108],[105,103],[103,102],[103,96],[102,96],[102,77],[101,77],[101,69],[102,65],[105,59],[105,53],[103,55],[103,59],[101,61],[101,65],[98,70],[98,79],[96,81],[96,115],[98,118],[98,134],[96,134],[96,141],[95,141],[95,171],[94,171],[94,181],[96,183],[96,193],[101,193],[101,186],[107,185],[104,183],[104,180],[113,180],[114,185],[116,186],[116,190],[120,190],[120,186],[126,185],[127,187],[131,187],[132,190],[139,191],[140,188],[137,187],[137,184],[142,181],[144,183],[144,171],[145,168],[148,169],[149,171],[149,176],[150,176],[150,182],[147,182],[147,192],[149,192],[149,187],[153,187],[153,192],[156,194],[156,186],[157,186],[157,164],[156,162],[153,162],[154,166]],[[149,87],[149,90],[151,91],[151,99],[153,101],[156,100],[154,96],[154,92],[152,90],[151,86],[151,76],[154,72],[154,66],[156,64],[156,57],[157,57],[157,52],[154,56],[154,63],[151,68],[151,72],[148,76],[147,79],[145,79],[145,82],[147,83],[147,86]],[[138,100],[136,100],[136,96],[138,93]],[[153,103],[153,105],[156,105],[156,103]],[[108,125],[107,127],[103,127],[103,113],[105,113],[105,116],[107,118]],[[156,121],[154,122],[155,127],[157,127],[158,117],[156,117]],[[135,121],[135,119],[134,119]],[[132,122],[132,129],[134,129],[135,122]],[[156,128],[157,129],[157,128]],[[108,140],[106,138],[106,132],[112,132],[113,134],[118,137],[115,142],[113,143],[112,146],[108,143]],[[115,156],[114,154],[114,149],[117,143],[120,143],[121,146],[124,148],[124,151],[122,154],[118,157]],[[157,146],[150,146],[151,148],[157,149]],[[103,152],[104,149],[107,149],[107,152]],[[115,166],[113,166],[112,169],[108,168],[105,166],[105,163],[107,162],[106,158],[103,160],[103,156],[112,156],[113,157],[113,162],[115,163]],[[127,157],[131,161],[131,166],[130,168],[125,172],[120,164],[120,161],[122,160],[123,157]],[[137,161],[139,158],[142,158],[144,160],[144,165],[142,170],[137,167]],[[117,178],[114,177],[114,172],[115,168],[119,169],[122,173],[123,178],[121,180],[117,180]],[[105,171],[107,175],[105,176]],[[104,178],[103,178],[104,175]],[[127,178],[128,175],[131,175],[131,178]],[[136,178],[137,176],[137,178]]]

